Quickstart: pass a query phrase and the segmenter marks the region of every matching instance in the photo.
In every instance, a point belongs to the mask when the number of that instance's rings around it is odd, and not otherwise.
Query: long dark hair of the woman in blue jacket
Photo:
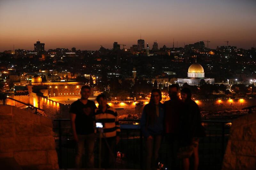
[[[149,101],[149,104],[146,106],[146,113],[147,113],[147,122],[146,122],[146,126],[148,127],[148,125],[153,125],[155,122],[156,122],[156,105],[155,103],[153,102],[153,93],[154,92],[157,92],[159,94],[159,97],[160,97],[160,100],[162,100],[162,92],[160,89],[153,89],[151,91],[151,97],[150,97],[150,101]]]

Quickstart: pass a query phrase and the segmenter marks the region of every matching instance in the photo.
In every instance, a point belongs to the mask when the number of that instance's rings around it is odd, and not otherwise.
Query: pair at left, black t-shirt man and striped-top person
[[[99,103],[98,108],[92,100],[88,100],[90,95],[91,88],[87,85],[82,86],[81,98],[71,104],[69,111],[74,140],[77,145],[75,166],[76,168],[81,167],[81,158],[85,151],[86,167],[94,167],[94,144],[97,134],[99,134],[99,167],[114,168],[115,147],[120,139],[117,112],[107,104],[107,98],[104,94],[100,94],[96,98]],[[95,133],[95,122],[103,125],[100,129],[101,133]]]

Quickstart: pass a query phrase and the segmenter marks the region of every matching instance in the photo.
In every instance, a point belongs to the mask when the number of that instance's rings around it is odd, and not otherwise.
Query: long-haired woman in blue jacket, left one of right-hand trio
[[[158,151],[164,132],[164,104],[160,103],[162,94],[159,89],[151,91],[150,101],[143,108],[140,126],[146,139],[146,169],[156,169]],[[153,155],[153,166],[151,159]]]

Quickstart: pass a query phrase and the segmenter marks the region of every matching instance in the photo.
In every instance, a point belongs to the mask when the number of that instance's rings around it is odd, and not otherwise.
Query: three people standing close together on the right
[[[205,136],[201,125],[201,114],[196,102],[191,100],[188,88],[169,86],[170,100],[162,104],[159,89],[153,89],[150,101],[143,108],[141,130],[146,143],[146,169],[156,169],[159,149],[163,137],[168,144],[168,167],[189,170],[190,157],[193,155],[193,169],[198,169],[199,137]],[[180,163],[182,162],[182,163]]]

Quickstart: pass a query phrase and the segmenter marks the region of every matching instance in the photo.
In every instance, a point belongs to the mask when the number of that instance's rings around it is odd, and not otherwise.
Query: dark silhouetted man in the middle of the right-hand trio
[[[178,169],[178,133],[180,127],[180,114],[183,110],[183,102],[178,96],[179,87],[178,85],[169,86],[169,97],[170,100],[164,102],[165,106],[165,132],[166,140],[169,148],[169,167],[172,169]],[[170,160],[171,159],[171,160]]]

